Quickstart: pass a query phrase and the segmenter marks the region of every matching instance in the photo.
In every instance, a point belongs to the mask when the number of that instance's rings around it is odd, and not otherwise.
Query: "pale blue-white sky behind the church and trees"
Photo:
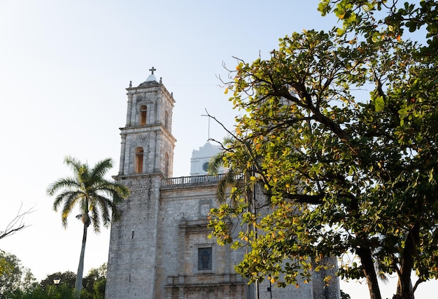
[[[174,92],[172,133],[178,140],[174,176],[190,174],[190,156],[225,132],[237,111],[218,76],[227,78],[239,57],[269,57],[278,38],[302,29],[330,29],[318,0],[59,1],[0,0],[0,230],[22,209],[29,228],[0,240],[38,280],[76,272],[82,223],[52,211],[45,189],[71,172],[72,155],[90,165],[113,158],[118,173],[120,130],[125,126],[129,81],[155,76]],[[109,230],[91,230],[85,272],[108,258]],[[419,286],[416,298],[432,298],[437,281]],[[351,298],[369,298],[365,282],[341,283]],[[390,298],[395,286],[383,288]]]

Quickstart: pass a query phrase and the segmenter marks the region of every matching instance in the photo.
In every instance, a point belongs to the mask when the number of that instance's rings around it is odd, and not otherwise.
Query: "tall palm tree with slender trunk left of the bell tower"
[[[97,162],[92,169],[87,163],[69,156],[64,158],[64,163],[71,167],[74,176],[58,179],[50,184],[47,193],[50,196],[56,195],[53,202],[55,211],[62,206],[64,228],[67,226],[67,217],[73,207],[78,206],[80,211],[76,218],[83,223],[83,239],[75,284],[76,298],[79,298],[82,289],[87,228],[92,224],[94,232],[98,233],[101,223],[107,228],[111,221],[117,221],[120,213],[116,204],[129,195],[129,189],[120,183],[104,179],[106,172],[113,167],[111,158]]]

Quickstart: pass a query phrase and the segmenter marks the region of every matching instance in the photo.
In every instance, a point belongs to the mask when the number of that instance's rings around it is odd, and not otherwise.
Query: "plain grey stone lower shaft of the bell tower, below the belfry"
[[[119,178],[131,190],[111,226],[106,298],[154,298],[159,176]]]

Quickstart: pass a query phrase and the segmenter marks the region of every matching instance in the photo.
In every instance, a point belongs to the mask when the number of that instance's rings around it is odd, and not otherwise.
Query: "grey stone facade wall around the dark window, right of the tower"
[[[208,237],[215,193],[216,183],[161,190],[155,298],[248,298],[246,282],[234,271],[243,253]],[[198,268],[200,248],[212,249],[210,270]]]

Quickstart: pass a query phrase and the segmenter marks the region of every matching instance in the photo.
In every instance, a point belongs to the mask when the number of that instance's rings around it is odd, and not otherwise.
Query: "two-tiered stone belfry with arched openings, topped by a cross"
[[[174,98],[152,74],[145,82],[127,88],[126,126],[120,130],[122,150],[119,176],[162,174],[172,176],[175,139],[171,134]]]

